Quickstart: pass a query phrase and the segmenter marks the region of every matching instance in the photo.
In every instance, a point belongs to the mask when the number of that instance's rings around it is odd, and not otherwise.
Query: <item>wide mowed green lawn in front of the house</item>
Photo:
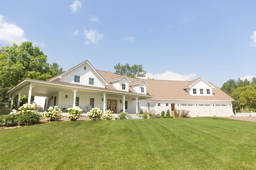
[[[0,169],[255,169],[256,123],[66,121],[0,130]]]

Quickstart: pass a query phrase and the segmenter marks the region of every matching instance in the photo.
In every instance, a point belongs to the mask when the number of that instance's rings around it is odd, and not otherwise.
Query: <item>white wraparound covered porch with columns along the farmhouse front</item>
[[[20,106],[20,96],[28,95],[28,103],[32,102],[32,96],[44,98],[43,104],[37,103],[43,110],[47,110],[50,106],[58,106],[65,112],[70,107],[79,106],[86,113],[88,106],[98,107],[104,113],[106,109],[113,113],[121,111],[137,113],[139,111],[138,100],[147,99],[148,101],[151,98],[151,96],[138,93],[32,79],[25,79],[8,93],[12,94],[11,110],[15,95],[18,95],[17,108]],[[36,99],[35,102],[37,102]]]

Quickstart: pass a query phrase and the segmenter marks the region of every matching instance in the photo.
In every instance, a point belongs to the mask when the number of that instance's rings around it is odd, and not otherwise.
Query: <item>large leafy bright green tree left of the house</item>
[[[32,42],[14,43],[1,48],[0,53],[0,106],[10,103],[7,91],[23,79],[47,80],[55,76],[46,63],[47,56]]]

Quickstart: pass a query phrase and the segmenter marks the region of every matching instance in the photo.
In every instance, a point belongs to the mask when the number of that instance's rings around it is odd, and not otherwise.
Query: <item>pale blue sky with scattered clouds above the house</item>
[[[221,87],[256,77],[255,0],[6,0],[0,44],[33,42],[64,70],[142,64],[146,77]]]

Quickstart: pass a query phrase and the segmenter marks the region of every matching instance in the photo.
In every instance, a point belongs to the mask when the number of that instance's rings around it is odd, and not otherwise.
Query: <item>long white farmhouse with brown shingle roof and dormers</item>
[[[189,110],[190,117],[233,116],[232,101],[214,84],[198,78],[194,81],[145,80],[100,71],[86,60],[47,81],[25,79],[10,89],[14,95],[35,96],[41,110],[50,106],[60,109],[79,106],[84,111],[88,106],[114,113],[121,111],[135,114],[138,111]],[[12,107],[12,106],[11,106]]]

